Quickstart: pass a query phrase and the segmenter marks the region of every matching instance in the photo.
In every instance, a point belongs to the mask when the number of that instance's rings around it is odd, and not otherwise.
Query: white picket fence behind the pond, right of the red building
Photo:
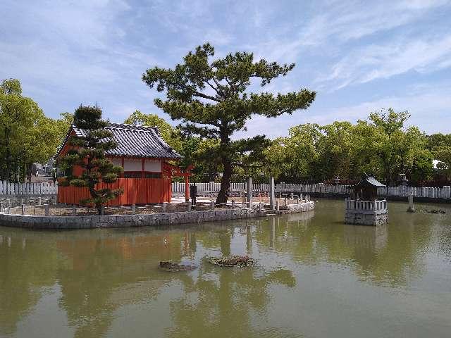
[[[217,193],[221,187],[220,183],[195,183],[197,193]],[[256,183],[252,184],[255,192],[268,192],[269,184]],[[244,192],[246,183],[231,183],[230,192]],[[275,187],[276,193],[283,192],[299,192],[299,193],[323,193],[323,194],[347,194],[349,193],[349,185],[345,184],[292,184],[278,183]],[[172,191],[175,193],[185,193],[185,183],[173,182]],[[414,197],[428,197],[431,199],[451,199],[451,187],[380,187],[378,188],[379,196],[401,196],[407,197],[412,194]]]

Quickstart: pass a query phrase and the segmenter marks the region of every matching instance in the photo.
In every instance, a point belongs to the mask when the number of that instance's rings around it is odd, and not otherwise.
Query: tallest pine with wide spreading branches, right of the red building
[[[209,61],[214,56],[210,44],[198,46],[173,69],[155,67],[142,75],[149,87],[166,91],[166,100],[155,99],[155,104],[173,120],[182,120],[180,130],[206,139],[218,139],[215,157],[220,161],[223,176],[217,204],[227,201],[230,177],[236,165],[246,165],[247,158],[262,154],[262,145],[268,144],[264,136],[232,140],[234,132],[246,130],[252,115],[268,118],[306,109],[315,98],[315,92],[277,94],[248,93],[252,79],[261,80],[261,86],[280,75],[287,75],[294,64],[278,65],[262,59],[254,62],[247,52],[228,54]],[[255,153],[255,154],[252,154]],[[249,157],[250,156],[250,157]]]

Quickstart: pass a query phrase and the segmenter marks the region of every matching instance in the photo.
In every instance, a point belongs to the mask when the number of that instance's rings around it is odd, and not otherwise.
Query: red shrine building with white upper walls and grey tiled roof
[[[186,173],[182,173],[180,168],[168,163],[179,161],[182,157],[164,142],[158,128],[109,123],[105,129],[113,134],[118,143],[116,149],[106,151],[106,157],[114,165],[123,168],[123,173],[116,182],[99,183],[96,187],[96,189],[101,187],[123,189],[123,194],[109,201],[109,206],[171,202],[172,177],[184,176],[185,184],[188,184],[190,168]],[[62,158],[74,148],[69,144],[69,139],[73,135],[85,136],[85,130],[70,127],[56,154],[57,163],[58,158]],[[82,173],[80,167],[73,170],[74,175]],[[85,187],[58,187],[58,203],[80,204],[81,199],[87,199],[89,196],[89,191]]]

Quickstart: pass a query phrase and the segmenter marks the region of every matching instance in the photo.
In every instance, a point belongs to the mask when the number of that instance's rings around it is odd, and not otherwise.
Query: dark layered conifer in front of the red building
[[[94,204],[101,213],[101,206],[123,193],[122,189],[97,189],[97,184],[113,183],[118,173],[123,170],[113,165],[105,156],[105,151],[117,146],[113,134],[104,127],[108,123],[101,120],[101,109],[91,106],[80,106],[74,114],[73,124],[83,130],[83,136],[73,136],[69,142],[75,146],[73,150],[61,159],[63,169],[68,169],[69,175],[63,177],[62,185],[87,187],[91,198],[80,201],[81,204]],[[74,167],[82,168],[81,175],[74,175]]]

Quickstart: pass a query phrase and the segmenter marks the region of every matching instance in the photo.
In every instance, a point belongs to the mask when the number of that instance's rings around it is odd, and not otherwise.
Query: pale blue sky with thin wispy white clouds
[[[171,122],[142,73],[210,42],[218,57],[295,63],[255,91],[317,93],[307,110],[254,117],[235,137],[389,107],[428,134],[451,132],[451,1],[0,0],[0,12],[0,79],[18,78],[52,118],[97,103],[112,122],[135,110]]]

